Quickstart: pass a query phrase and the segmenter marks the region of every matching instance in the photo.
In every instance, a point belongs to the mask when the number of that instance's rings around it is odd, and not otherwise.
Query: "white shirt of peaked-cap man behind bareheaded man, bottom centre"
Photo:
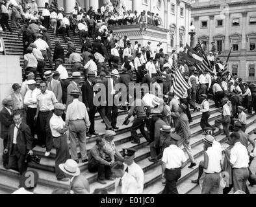
[[[133,162],[131,166],[128,166],[128,174],[132,175],[138,184],[138,193],[142,193],[144,189],[144,172],[138,164]]]

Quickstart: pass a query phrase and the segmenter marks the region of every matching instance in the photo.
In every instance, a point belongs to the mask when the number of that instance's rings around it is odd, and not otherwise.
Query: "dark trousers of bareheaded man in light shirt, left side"
[[[39,112],[40,129],[42,130],[42,136],[44,140],[41,140],[42,144],[45,144],[46,151],[50,152],[53,148],[53,136],[51,136],[50,119],[53,116],[53,111]]]

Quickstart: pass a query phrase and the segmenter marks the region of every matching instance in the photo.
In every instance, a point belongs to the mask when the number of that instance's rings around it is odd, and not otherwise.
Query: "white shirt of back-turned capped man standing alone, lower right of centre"
[[[162,162],[166,164],[166,169],[181,168],[183,162],[186,162],[184,151],[174,144],[164,149]]]

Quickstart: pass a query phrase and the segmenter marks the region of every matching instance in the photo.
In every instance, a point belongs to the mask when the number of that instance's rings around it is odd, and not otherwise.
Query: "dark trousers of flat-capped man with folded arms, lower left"
[[[59,164],[65,163],[66,160],[70,159],[70,148],[68,147],[67,136],[62,135],[57,138],[53,138],[53,146],[56,149],[55,156],[55,175],[57,179],[63,179],[65,174],[58,167]]]

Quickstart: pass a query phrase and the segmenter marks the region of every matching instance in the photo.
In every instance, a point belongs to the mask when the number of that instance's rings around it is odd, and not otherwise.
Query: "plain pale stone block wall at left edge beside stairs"
[[[0,56],[0,110],[3,109],[2,100],[12,93],[14,83],[22,83],[19,56]],[[2,155],[3,140],[0,139],[0,157]]]

